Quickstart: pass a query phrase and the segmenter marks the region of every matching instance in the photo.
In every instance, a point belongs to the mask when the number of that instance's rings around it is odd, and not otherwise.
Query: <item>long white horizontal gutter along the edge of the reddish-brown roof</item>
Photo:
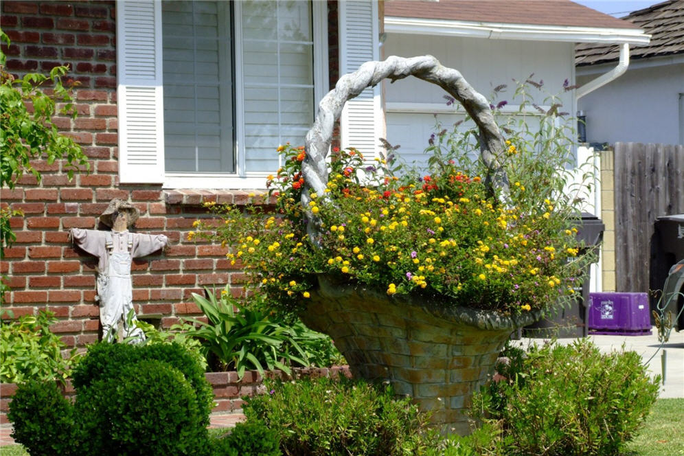
[[[385,16],[385,32],[437,36],[470,36],[527,41],[564,41],[571,43],[628,43],[646,45],[650,35],[642,29],[576,27],[570,25],[509,24],[451,21]]]

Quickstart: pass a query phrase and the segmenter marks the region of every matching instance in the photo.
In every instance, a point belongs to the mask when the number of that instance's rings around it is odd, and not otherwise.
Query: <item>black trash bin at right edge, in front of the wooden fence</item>
[[[684,260],[684,214],[656,218],[655,238],[655,249],[652,249],[649,286],[652,290],[663,290],[663,284],[665,284],[672,266]],[[670,291],[684,293],[684,290]],[[650,303],[652,310],[656,308],[658,298],[659,296],[652,296]],[[668,310],[676,316],[683,306],[684,297],[679,296],[671,300]],[[674,321],[673,323],[675,323],[677,330],[684,328],[684,313],[679,316],[679,321]]]

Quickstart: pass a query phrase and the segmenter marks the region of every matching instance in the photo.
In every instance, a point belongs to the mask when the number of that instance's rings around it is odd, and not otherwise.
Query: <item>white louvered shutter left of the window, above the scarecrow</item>
[[[119,181],[163,183],[161,1],[117,1]]]

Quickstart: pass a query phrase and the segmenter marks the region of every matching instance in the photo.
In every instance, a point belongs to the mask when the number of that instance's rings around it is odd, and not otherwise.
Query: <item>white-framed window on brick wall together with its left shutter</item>
[[[324,93],[326,4],[122,3],[121,181],[263,187],[277,146],[304,144]]]

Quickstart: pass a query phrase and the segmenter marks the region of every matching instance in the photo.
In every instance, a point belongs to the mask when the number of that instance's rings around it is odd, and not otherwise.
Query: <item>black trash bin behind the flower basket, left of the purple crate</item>
[[[577,238],[584,241],[584,249],[580,253],[586,253],[590,249],[597,249],[603,240],[603,232],[606,229],[603,221],[589,212],[582,212],[582,220],[578,220]],[[589,268],[589,264],[586,265]],[[577,290],[580,295],[572,302],[569,308],[564,307],[551,317],[546,317],[523,328],[525,337],[586,337],[586,315],[589,301],[589,271],[586,271],[584,281]]]

